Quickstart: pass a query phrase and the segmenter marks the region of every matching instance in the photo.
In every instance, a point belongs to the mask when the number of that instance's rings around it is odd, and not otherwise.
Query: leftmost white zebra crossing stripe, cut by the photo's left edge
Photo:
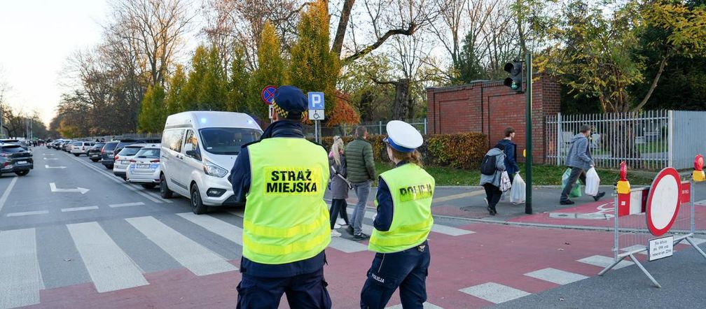
[[[0,231],[0,248],[0,308],[40,303],[35,229]]]

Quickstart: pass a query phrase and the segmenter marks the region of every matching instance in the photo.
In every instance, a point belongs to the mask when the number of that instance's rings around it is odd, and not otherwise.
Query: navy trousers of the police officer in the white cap
[[[400,288],[402,308],[423,308],[426,301],[426,276],[429,274],[429,245],[396,253],[376,253],[368,270],[368,279],[360,293],[360,307],[385,308],[395,290]]]

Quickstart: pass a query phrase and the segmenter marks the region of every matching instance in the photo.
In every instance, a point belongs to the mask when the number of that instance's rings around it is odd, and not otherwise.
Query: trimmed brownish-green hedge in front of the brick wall
[[[385,150],[385,135],[369,135],[368,142],[373,145],[376,162],[390,162]],[[345,144],[353,140],[352,136],[343,137]],[[330,150],[333,137],[321,139],[321,144]],[[481,159],[487,152],[488,138],[483,133],[435,134],[424,137],[424,144],[419,147],[422,161],[428,166],[450,166],[457,169],[478,169]]]

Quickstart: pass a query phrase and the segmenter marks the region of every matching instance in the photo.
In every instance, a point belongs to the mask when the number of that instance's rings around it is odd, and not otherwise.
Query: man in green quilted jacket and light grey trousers
[[[348,232],[353,234],[357,240],[364,240],[370,236],[363,234],[363,217],[365,217],[365,205],[370,195],[372,181],[376,178],[375,162],[373,162],[373,146],[366,141],[368,139],[368,129],[358,126],[355,129],[356,138],[346,146],[346,164],[348,166],[348,181],[353,185],[358,204],[353,211],[351,222],[353,226],[348,226]],[[345,210],[344,210],[345,211]]]

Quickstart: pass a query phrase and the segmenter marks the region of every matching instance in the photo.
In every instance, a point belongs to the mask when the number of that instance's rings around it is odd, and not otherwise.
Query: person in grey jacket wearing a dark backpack
[[[496,205],[503,192],[500,190],[500,181],[505,171],[505,145],[498,144],[488,150],[481,162],[481,186],[486,190],[486,202],[491,216],[496,215]]]

